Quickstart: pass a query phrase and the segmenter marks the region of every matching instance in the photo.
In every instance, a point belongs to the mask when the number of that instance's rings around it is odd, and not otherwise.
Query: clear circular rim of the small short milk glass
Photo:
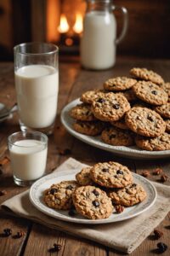
[[[17,135],[21,135],[24,139],[24,135],[37,135],[43,138],[43,141],[41,141],[44,145],[46,145],[48,143],[48,137],[46,134],[40,132],[40,131],[16,131],[14,133],[12,133],[11,135],[8,136],[8,143],[11,145],[14,145],[15,147],[19,147],[19,148],[35,148],[35,146],[20,146],[20,145],[16,145],[15,142],[13,143],[11,141],[12,137],[15,137]],[[34,139],[33,137],[31,139]],[[35,138],[36,139],[36,138]],[[19,139],[18,141],[21,141],[21,139]]]

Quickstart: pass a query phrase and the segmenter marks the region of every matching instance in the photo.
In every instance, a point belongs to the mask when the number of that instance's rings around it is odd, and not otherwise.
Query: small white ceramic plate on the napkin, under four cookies
[[[110,218],[91,220],[91,219],[83,218],[79,214],[76,214],[75,217],[70,217],[68,215],[68,211],[54,210],[52,208],[47,207],[42,200],[43,191],[45,189],[48,189],[54,183],[59,183],[63,180],[75,179],[75,174],[76,172],[71,173],[71,172],[65,171],[63,175],[59,174],[59,177],[57,177],[56,173],[53,173],[53,174],[49,174],[48,176],[40,178],[39,180],[37,180],[36,183],[33,183],[31,186],[31,189],[30,189],[31,203],[39,211],[51,217],[58,218],[64,221],[74,222],[78,224],[106,224],[106,223],[122,221],[128,218],[133,218],[139,215],[140,213],[148,210],[156,201],[156,196],[157,196],[156,188],[146,178],[133,173],[134,183],[139,183],[144,187],[147,193],[147,198],[136,206],[125,208],[125,210],[120,214],[112,213]]]

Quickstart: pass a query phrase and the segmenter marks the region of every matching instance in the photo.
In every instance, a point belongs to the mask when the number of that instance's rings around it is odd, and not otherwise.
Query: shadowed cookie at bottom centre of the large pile
[[[132,131],[122,131],[119,128],[107,127],[101,133],[101,138],[105,143],[113,146],[132,146],[133,133]]]

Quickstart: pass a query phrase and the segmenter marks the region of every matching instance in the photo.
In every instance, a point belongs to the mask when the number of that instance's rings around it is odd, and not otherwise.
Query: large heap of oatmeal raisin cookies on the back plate
[[[132,78],[108,79],[101,90],[82,94],[82,104],[71,109],[73,129],[101,135],[113,146],[144,150],[170,149],[170,83],[146,68],[134,67]]]

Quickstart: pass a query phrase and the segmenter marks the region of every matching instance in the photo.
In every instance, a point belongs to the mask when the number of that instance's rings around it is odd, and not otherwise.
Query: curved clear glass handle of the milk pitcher
[[[116,6],[113,5],[112,6],[112,10],[121,10],[122,15],[123,15],[123,25],[122,25],[122,32],[119,36],[119,38],[116,38],[116,44],[119,44],[122,39],[125,37],[126,33],[127,33],[127,26],[128,26],[128,13],[127,13],[127,9],[123,6]]]

